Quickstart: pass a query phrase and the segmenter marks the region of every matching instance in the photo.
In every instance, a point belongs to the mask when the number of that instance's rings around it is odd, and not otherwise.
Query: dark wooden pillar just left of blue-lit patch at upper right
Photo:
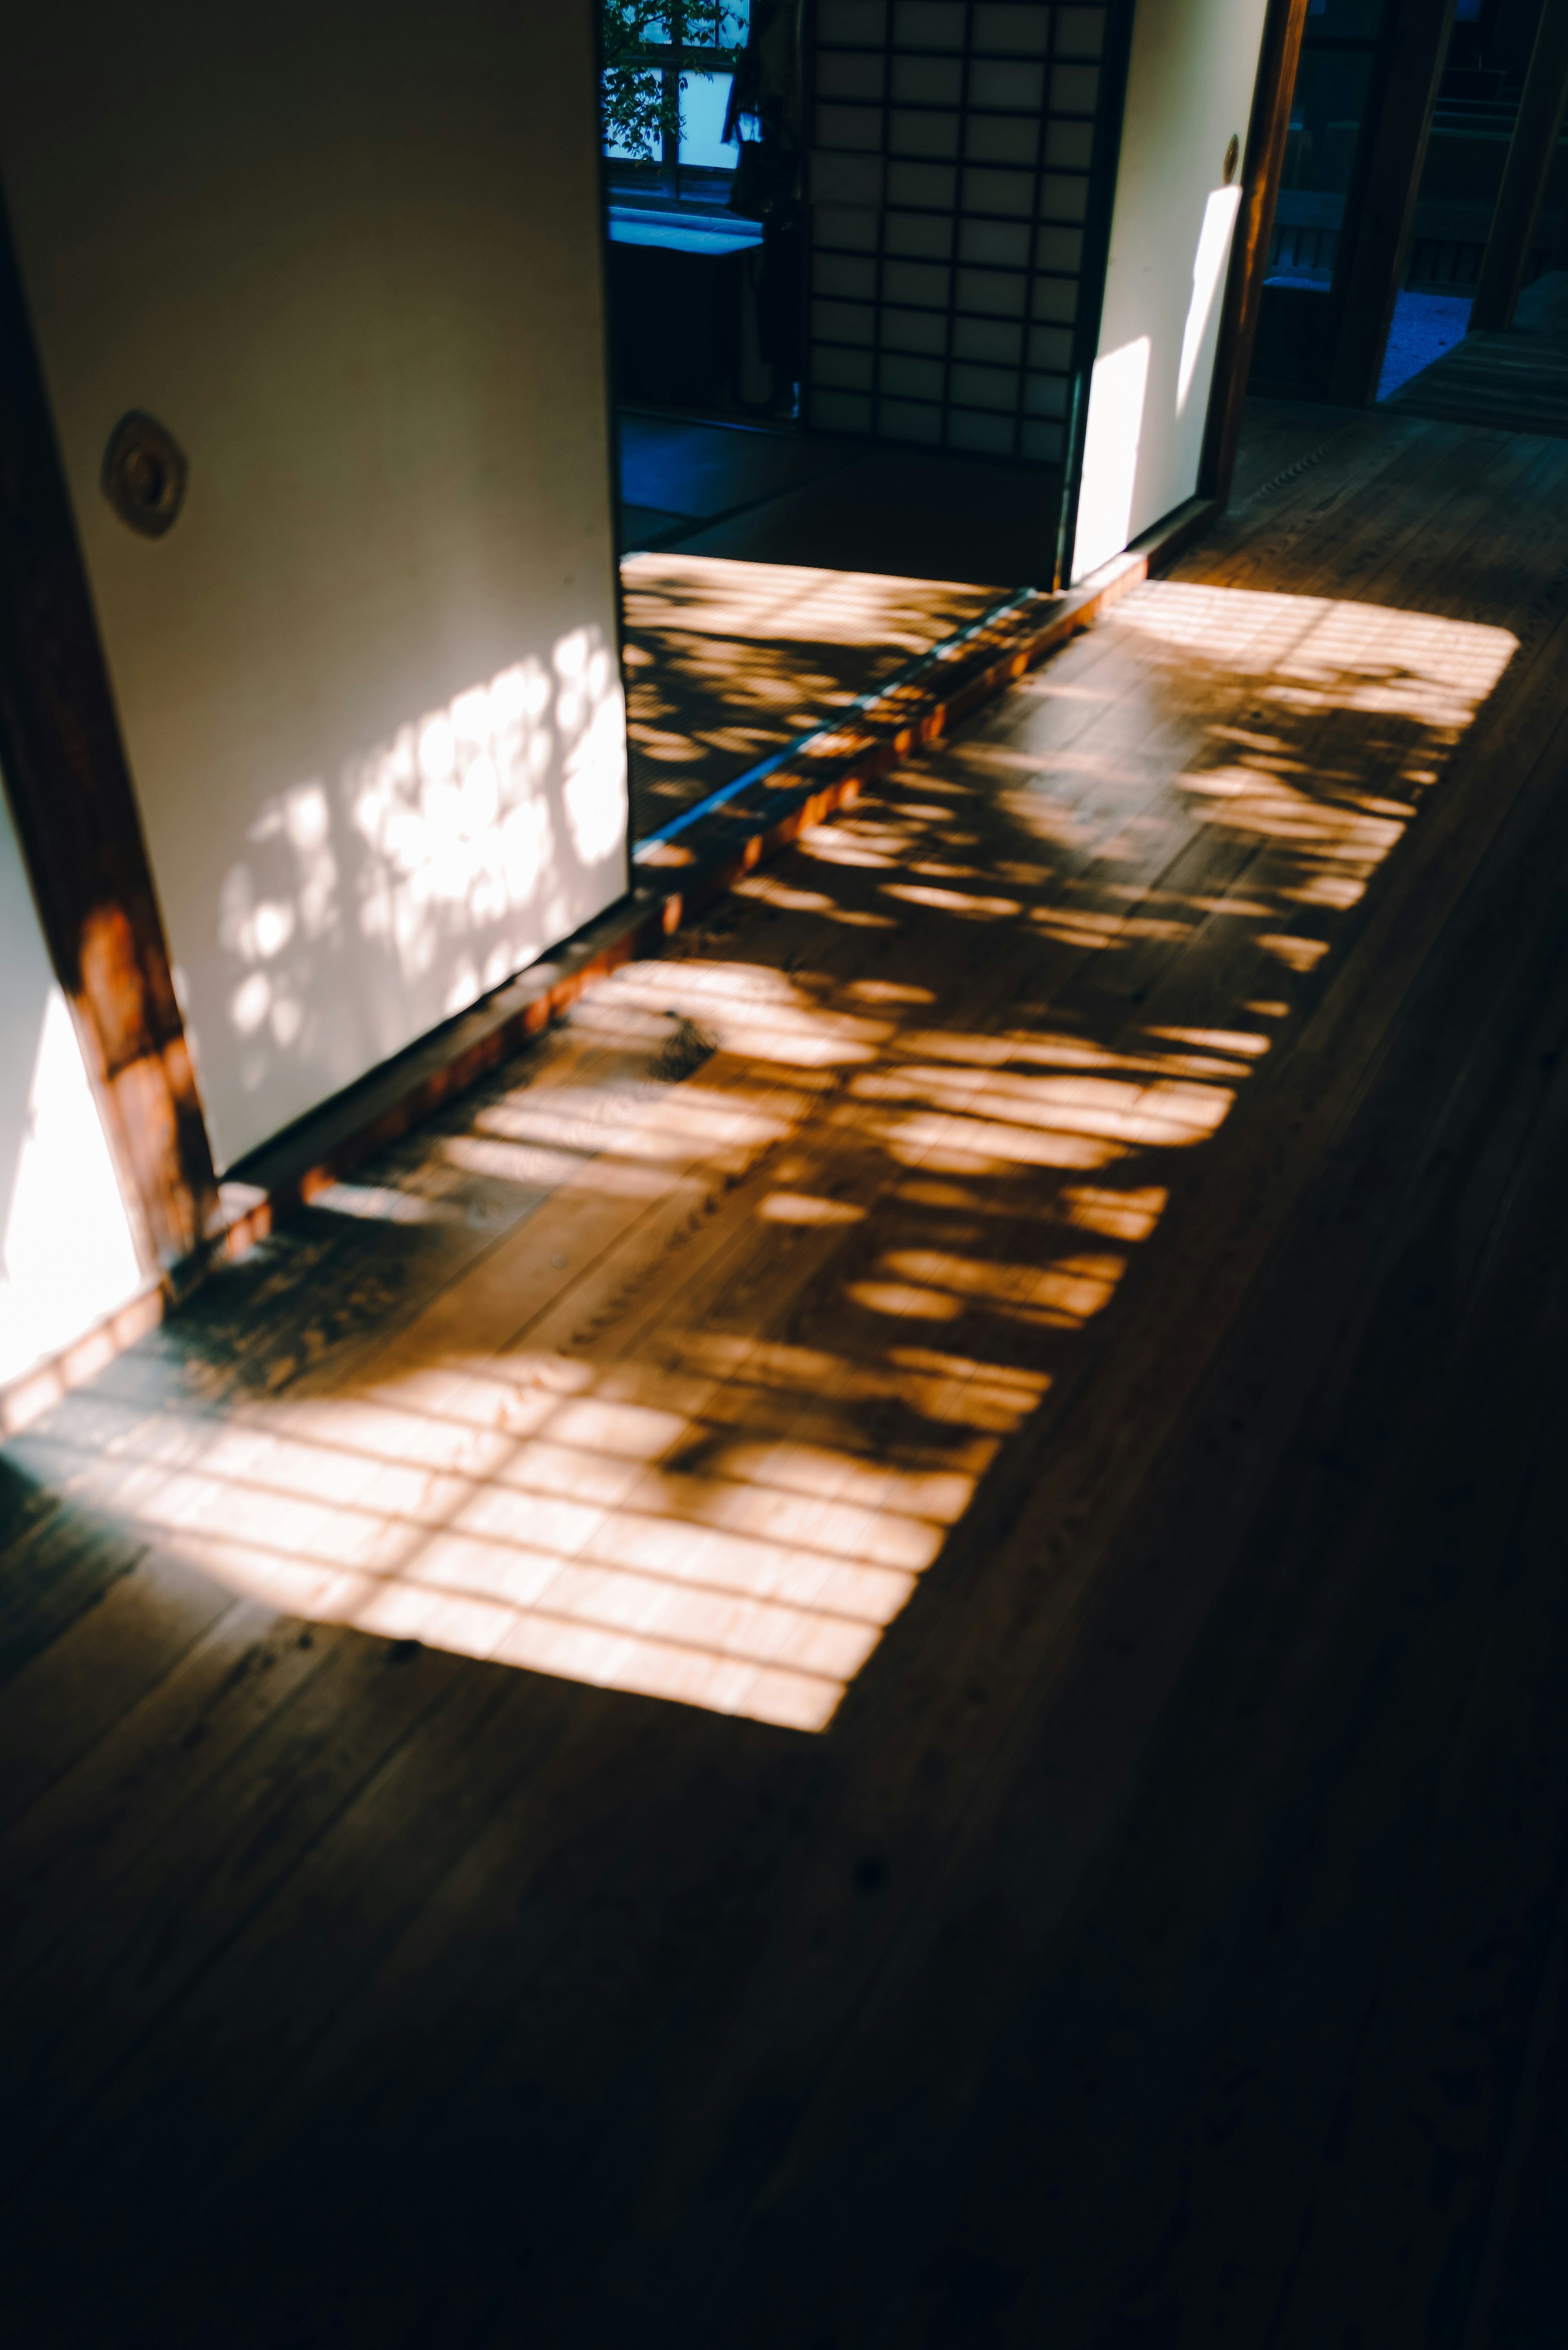
[[[1349,251],[1335,273],[1324,395],[1342,407],[1371,407],[1378,397],[1450,26],[1453,0],[1389,0],[1368,89],[1371,127],[1345,197]]]

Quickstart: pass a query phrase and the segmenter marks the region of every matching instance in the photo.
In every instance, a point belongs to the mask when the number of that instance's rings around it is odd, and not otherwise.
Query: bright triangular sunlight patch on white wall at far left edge
[[[5,1140],[0,1379],[68,1347],[141,1288],[120,1184],[59,987],[42,1006],[26,1121]]]

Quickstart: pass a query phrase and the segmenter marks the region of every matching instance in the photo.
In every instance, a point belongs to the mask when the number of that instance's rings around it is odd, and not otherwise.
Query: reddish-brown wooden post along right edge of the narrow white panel
[[[1274,202],[1279,197],[1279,174],[1286,162],[1291,94],[1295,89],[1307,7],[1309,0],[1269,0],[1262,47],[1258,52],[1258,87],[1246,132],[1246,160],[1241,164],[1241,209],[1229,247],[1225,308],[1220,313],[1220,341],[1213,360],[1213,390],[1208,395],[1204,458],[1199,465],[1199,496],[1218,498],[1220,505],[1229,498],[1229,479],[1237,470],[1246,378],[1253,371],[1262,280],[1269,266]]]

